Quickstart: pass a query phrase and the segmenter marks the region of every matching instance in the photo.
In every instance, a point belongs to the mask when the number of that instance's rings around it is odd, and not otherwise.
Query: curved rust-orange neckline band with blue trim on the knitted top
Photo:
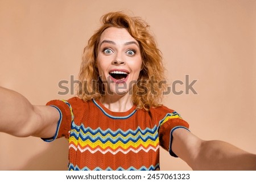
[[[134,115],[137,111],[136,105],[133,105],[129,110],[125,112],[114,112],[106,108],[99,100],[94,100],[93,103],[108,117],[116,119],[126,119]]]

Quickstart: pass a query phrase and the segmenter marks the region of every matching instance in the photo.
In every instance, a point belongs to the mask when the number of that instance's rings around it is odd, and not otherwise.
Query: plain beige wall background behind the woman
[[[256,1],[0,0],[0,86],[44,105],[61,80],[77,77],[82,49],[102,14],[125,10],[150,25],[168,81],[198,81],[175,109],[203,139],[221,139],[256,153]],[[177,87],[184,90],[184,85]],[[0,133],[0,170],[67,170],[68,145]],[[161,150],[162,170],[191,170]]]

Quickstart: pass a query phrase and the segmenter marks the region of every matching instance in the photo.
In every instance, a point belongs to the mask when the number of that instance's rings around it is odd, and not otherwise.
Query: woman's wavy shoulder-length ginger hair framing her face
[[[156,41],[151,35],[149,25],[139,17],[126,15],[123,12],[109,12],[101,18],[102,26],[90,37],[88,45],[84,48],[82,64],[80,68],[79,97],[82,100],[101,99],[104,95],[104,84],[99,79],[96,67],[98,44],[100,36],[109,27],[126,28],[132,37],[139,43],[142,57],[142,70],[137,84],[133,85],[132,98],[137,108],[145,108],[161,105],[163,91],[166,83],[152,84],[151,81],[164,81],[164,68],[162,53],[156,46]],[[142,84],[143,87],[138,84]],[[143,88],[143,89],[142,89]]]

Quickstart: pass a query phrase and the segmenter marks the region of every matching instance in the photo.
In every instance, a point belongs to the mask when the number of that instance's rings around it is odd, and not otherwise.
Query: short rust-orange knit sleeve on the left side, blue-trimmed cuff
[[[55,136],[52,138],[42,138],[46,142],[51,142],[56,138],[69,137],[69,131],[71,130],[71,122],[74,119],[73,109],[69,101],[67,100],[51,100],[46,105],[54,107],[59,111],[60,118],[57,124]]]

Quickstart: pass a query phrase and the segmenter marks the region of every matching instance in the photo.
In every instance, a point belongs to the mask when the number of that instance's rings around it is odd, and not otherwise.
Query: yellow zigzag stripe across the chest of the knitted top
[[[81,138],[77,141],[75,137],[69,138],[69,143],[75,143],[75,145],[80,145],[82,147],[89,145],[92,148],[96,148],[97,146],[100,146],[102,149],[106,149],[107,147],[111,147],[113,150],[117,149],[119,146],[121,146],[123,149],[128,149],[130,146],[133,146],[134,148],[138,148],[139,145],[144,146],[145,148],[148,145],[157,146],[159,144],[159,139],[156,139],[156,141],[152,141],[151,139],[148,139],[147,142],[144,142],[142,139],[138,139],[137,142],[129,141],[127,143],[123,143],[121,141],[118,141],[117,143],[112,143],[110,141],[107,141],[106,143],[102,143],[100,140],[97,140],[96,142],[91,142],[89,139],[86,139],[86,141],[82,141]]]

